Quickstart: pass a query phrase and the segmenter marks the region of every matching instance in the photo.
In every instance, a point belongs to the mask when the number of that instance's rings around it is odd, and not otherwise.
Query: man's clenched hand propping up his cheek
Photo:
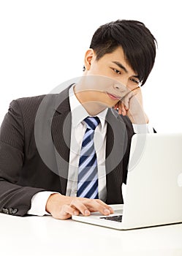
[[[129,91],[129,93],[115,105],[114,109],[118,109],[120,115],[128,116],[132,124],[148,123],[148,116],[143,110],[143,97],[140,87]]]

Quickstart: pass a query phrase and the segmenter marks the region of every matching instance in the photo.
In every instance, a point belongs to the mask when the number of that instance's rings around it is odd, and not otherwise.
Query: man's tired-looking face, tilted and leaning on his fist
[[[135,89],[140,81],[137,74],[127,64],[124,51],[118,47],[98,61],[94,50],[86,52],[82,83],[86,101],[100,102],[113,107],[129,91]]]

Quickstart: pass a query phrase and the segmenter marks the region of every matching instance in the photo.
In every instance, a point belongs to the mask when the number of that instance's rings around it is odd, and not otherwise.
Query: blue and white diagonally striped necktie
[[[77,178],[77,197],[99,198],[94,130],[100,123],[98,117],[87,117],[86,133],[83,136]]]

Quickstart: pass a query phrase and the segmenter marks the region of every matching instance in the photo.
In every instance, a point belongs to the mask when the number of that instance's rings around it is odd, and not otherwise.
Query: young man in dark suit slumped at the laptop
[[[143,23],[116,20],[96,30],[77,83],[11,102],[1,124],[1,212],[68,219],[123,203],[132,135],[150,132],[140,86],[155,56]]]

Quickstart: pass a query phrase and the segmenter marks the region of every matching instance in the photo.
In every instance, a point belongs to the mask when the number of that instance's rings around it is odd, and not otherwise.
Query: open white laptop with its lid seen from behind
[[[182,134],[132,137],[126,194],[114,214],[72,219],[117,230],[182,222]]]

